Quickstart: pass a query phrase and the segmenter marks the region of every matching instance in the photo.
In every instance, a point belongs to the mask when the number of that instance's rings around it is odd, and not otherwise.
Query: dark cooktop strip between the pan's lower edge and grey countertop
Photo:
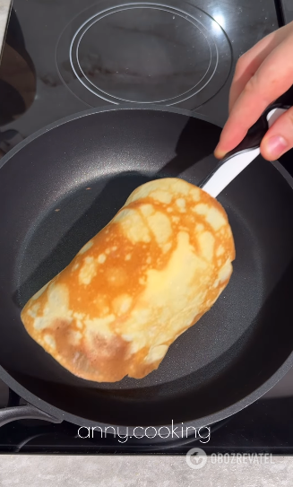
[[[0,381],[0,407],[24,404]],[[174,430],[168,440],[151,439],[154,430],[143,438],[131,438],[127,430],[114,436],[87,430],[69,422],[52,424],[37,420],[8,423],[0,429],[0,453],[67,454],[185,454],[190,448],[212,453],[293,454],[293,370],[269,393],[222,422],[197,429],[187,436]],[[170,429],[171,430],[171,429]],[[141,437],[142,431],[137,431]],[[177,438],[177,436],[179,438]],[[180,436],[183,438],[180,438]],[[88,438],[90,437],[90,438]],[[150,438],[149,438],[150,437]]]

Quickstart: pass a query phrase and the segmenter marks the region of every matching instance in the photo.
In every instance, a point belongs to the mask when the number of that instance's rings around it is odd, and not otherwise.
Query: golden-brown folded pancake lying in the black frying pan
[[[211,308],[234,257],[217,200],[181,179],[151,181],[29,300],[22,322],[80,378],[143,378]]]

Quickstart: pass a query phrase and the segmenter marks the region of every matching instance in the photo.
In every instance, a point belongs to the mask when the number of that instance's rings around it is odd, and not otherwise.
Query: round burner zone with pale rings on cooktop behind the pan
[[[209,14],[177,5],[113,0],[75,17],[56,48],[67,88],[90,106],[104,100],[194,109],[209,100],[227,80],[230,44]]]

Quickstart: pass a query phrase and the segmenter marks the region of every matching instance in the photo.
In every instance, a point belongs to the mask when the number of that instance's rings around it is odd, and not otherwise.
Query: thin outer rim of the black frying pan
[[[98,109],[87,109],[83,110],[81,112],[78,112],[76,114],[73,114],[68,117],[61,118],[57,120],[56,122],[49,124],[34,134],[30,135],[27,137],[22,143],[19,143],[14,147],[10,152],[8,152],[0,161],[0,170],[4,167],[4,164],[6,164],[8,161],[12,159],[12,157],[19,151],[22,150],[23,147],[28,145],[29,143],[33,142],[35,139],[37,139],[40,135],[46,134],[50,130],[56,128],[57,126],[62,126],[67,122],[76,120],[81,117],[87,117],[90,115],[94,115],[97,113],[102,113],[102,112],[108,112],[108,111],[118,111],[122,109],[143,109],[143,110],[152,110],[152,111],[160,111],[160,112],[167,112],[167,113],[175,113],[178,115],[184,115],[186,117],[194,117],[194,118],[199,118],[201,120],[210,122],[214,125],[218,125],[215,122],[211,121],[211,118],[204,116],[203,114],[197,113],[195,111],[189,111],[185,109],[176,109],[173,107],[161,107],[158,105],[145,105],[145,104],[123,104],[119,105],[119,107],[112,107],[112,106],[106,106],[106,107],[99,107]],[[218,125],[219,126],[219,125]],[[268,164],[272,164],[276,170],[278,170],[283,178],[288,182],[289,187],[293,190],[293,178],[289,175],[289,172],[285,170],[279,161],[268,161]],[[1,176],[0,176],[1,177]],[[1,358],[0,358],[1,360]],[[189,422],[185,422],[185,426],[193,426],[195,428],[198,427],[203,427],[210,425],[214,422],[219,422],[225,418],[228,418],[228,416],[233,415],[234,413],[238,413],[248,405],[254,403],[257,399],[262,397],[266,392],[268,392],[271,387],[275,386],[280,378],[284,377],[284,375],[291,369],[293,365],[293,351],[290,352],[288,358],[286,361],[284,361],[280,368],[272,374],[270,378],[268,378],[260,387],[257,387],[254,389],[252,393],[250,393],[248,396],[243,397],[237,403],[233,403],[228,405],[228,407],[225,407],[224,409],[221,409],[220,411],[217,411],[216,413],[211,413],[207,416],[203,416],[200,419],[196,420],[191,420]],[[13,389],[13,391],[21,396],[25,401],[27,401],[30,404],[33,404],[35,407],[41,409],[47,414],[50,414],[60,420],[65,420],[68,422],[72,422],[73,424],[79,425],[79,426],[100,426],[101,428],[106,428],[107,426],[118,426],[111,424],[109,425],[108,423],[103,423],[103,422],[95,422],[92,420],[88,420],[85,418],[82,418],[81,416],[77,416],[72,413],[67,413],[63,411],[62,409],[47,403],[47,401],[44,401],[40,399],[38,396],[32,394],[30,390],[28,390],[26,387],[23,387],[22,384],[20,384],[17,380],[15,380],[0,364],[0,378],[4,381],[4,383]],[[176,427],[177,425],[180,425],[181,423],[174,423],[174,426]],[[156,427],[159,428],[160,425],[156,425]],[[164,426],[164,425],[161,425]],[[166,424],[165,424],[166,426]],[[126,427],[126,426],[125,426]],[[127,425],[128,432],[131,434],[131,431],[135,428],[135,426],[132,425]],[[119,426],[120,430],[120,426]],[[122,431],[120,431],[122,433]]]

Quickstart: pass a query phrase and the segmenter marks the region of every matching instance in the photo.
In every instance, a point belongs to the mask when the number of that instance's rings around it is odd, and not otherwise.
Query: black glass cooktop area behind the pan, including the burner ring
[[[0,151],[103,105],[168,105],[223,125],[237,58],[279,17],[274,0],[14,0],[0,65]]]

